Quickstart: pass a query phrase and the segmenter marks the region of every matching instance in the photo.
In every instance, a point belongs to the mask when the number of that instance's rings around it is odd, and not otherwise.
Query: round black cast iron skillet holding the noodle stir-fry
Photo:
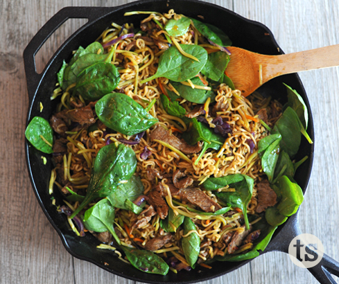
[[[263,24],[245,19],[225,8],[201,1],[141,0],[123,6],[110,8],[63,8],[39,30],[37,35],[33,37],[24,51],[28,96],[30,101],[27,123],[31,121],[34,116],[43,116],[44,118],[49,119],[49,116],[53,113],[57,102],[51,101],[50,96],[55,87],[55,82],[57,82],[56,73],[62,65],[62,60],[70,59],[71,51],[76,50],[80,45],[87,46],[94,42],[101,31],[110,26],[112,21],[118,24],[134,22],[134,26],[139,26],[140,20],[145,17],[145,15],[123,17],[124,12],[133,10],[168,12],[170,8],[173,8],[175,12],[191,17],[197,17],[197,15],[204,16],[207,23],[214,24],[215,26],[222,28],[229,38],[232,39],[234,46],[268,55],[283,53],[277,45],[277,42],[272,36],[270,30],[266,26],[263,26]],[[44,71],[41,74],[37,74],[35,69],[35,54],[42,44],[46,42],[46,39],[48,39],[51,34],[57,30],[62,23],[64,23],[64,21],[70,18],[87,18],[88,22],[76,31],[76,33],[71,35],[66,42],[64,42],[46,65]],[[304,87],[297,74],[290,74],[275,78],[263,85],[259,91],[263,94],[263,96],[270,95],[273,98],[280,100],[281,103],[285,103],[286,89],[282,82],[286,82],[286,84],[296,89],[302,98],[304,98],[309,114],[308,134],[314,141],[311,109]],[[42,113],[40,113],[40,102],[44,106],[44,111]],[[298,152],[298,157],[296,157],[297,160],[301,159],[305,155],[308,155],[309,157],[308,160],[297,170],[297,174],[295,176],[295,180],[299,186],[301,186],[304,193],[311,174],[313,145],[314,144],[308,144],[306,140],[303,139]],[[70,230],[64,215],[58,214],[55,210],[55,206],[51,204],[51,196],[47,190],[51,169],[53,167],[51,157],[47,157],[47,164],[44,166],[42,164],[41,156],[42,152],[35,150],[35,148],[29,145],[26,141],[28,172],[31,177],[31,182],[37,200],[39,201],[46,217],[49,219],[49,222],[51,222],[55,230],[58,232],[64,247],[76,258],[87,260],[116,275],[130,278],[134,281],[147,283],[194,283],[198,281],[206,281],[228,272],[232,272],[234,269],[237,269],[250,261],[245,260],[240,263],[216,262],[213,264],[212,269],[199,267],[193,269],[191,272],[184,271],[179,272],[178,274],[169,272],[166,276],[146,274],[134,269],[134,267],[118,260],[111,251],[96,249],[96,245],[98,245],[99,242],[96,238],[94,238],[94,236],[89,235],[85,238],[79,238],[75,236],[73,231]],[[58,190],[55,190],[53,196],[56,199],[56,204],[62,204],[62,195]],[[287,222],[277,229],[270,245],[264,253],[268,251],[284,251],[287,253],[290,240],[300,233],[301,231],[297,221],[297,214],[295,214],[288,218]],[[105,263],[108,265],[105,265]],[[336,283],[331,277],[331,274],[339,276],[339,263],[329,256],[324,255],[321,262],[309,270],[321,283]],[[280,273],[284,273],[284,271],[281,271]]]

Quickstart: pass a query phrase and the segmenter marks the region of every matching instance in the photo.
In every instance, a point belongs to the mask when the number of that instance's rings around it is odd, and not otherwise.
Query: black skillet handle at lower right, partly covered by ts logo
[[[278,233],[277,237],[275,238],[275,242],[268,245],[268,251],[283,251],[284,253],[288,254],[290,242],[293,240],[293,238],[302,234],[302,231],[299,228],[297,215],[298,213],[290,217],[290,222],[288,222],[284,229]],[[313,251],[313,249],[310,247],[308,248]],[[313,251],[313,254],[317,253]],[[337,284],[331,274],[339,277],[339,263],[333,258],[327,256],[327,254],[324,254],[322,256],[322,260],[320,260],[320,263],[314,267],[308,268],[308,271],[311,272],[315,278],[317,278],[319,283]]]

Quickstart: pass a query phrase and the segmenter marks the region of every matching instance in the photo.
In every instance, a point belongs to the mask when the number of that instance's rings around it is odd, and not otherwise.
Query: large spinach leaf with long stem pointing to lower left
[[[92,200],[98,197],[107,197],[113,193],[120,181],[132,177],[136,168],[137,158],[131,148],[123,144],[116,148],[114,143],[101,148],[94,161],[86,197],[73,212],[71,218]]]

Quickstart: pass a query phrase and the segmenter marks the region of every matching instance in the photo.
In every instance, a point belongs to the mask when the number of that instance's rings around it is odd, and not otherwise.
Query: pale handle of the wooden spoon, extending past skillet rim
[[[261,64],[263,83],[283,74],[339,66],[339,44],[311,51],[275,56],[266,55]]]

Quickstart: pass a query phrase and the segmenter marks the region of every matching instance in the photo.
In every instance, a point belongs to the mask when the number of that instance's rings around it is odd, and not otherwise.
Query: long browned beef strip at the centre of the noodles
[[[191,146],[159,125],[157,125],[157,127],[155,127],[155,130],[150,133],[150,139],[156,139],[168,143],[169,145],[172,145],[174,148],[180,150],[181,152],[184,152],[185,154],[198,153],[202,148],[202,143],[200,143],[200,141],[198,142],[198,145]]]

